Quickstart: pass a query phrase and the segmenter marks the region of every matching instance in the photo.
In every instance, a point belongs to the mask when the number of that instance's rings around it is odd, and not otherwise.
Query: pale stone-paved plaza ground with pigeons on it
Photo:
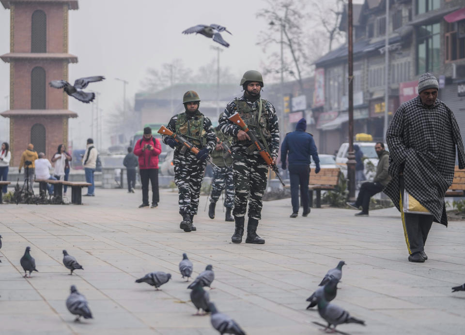
[[[70,191],[68,191],[68,194]],[[177,193],[161,191],[155,209],[138,209],[140,190],[96,189],[84,205],[0,205],[1,334],[217,334],[209,316],[193,316],[178,264],[186,252],[194,276],[213,264],[210,298],[249,335],[324,334],[306,310],[326,271],[343,267],[334,303],[366,320],[338,326],[356,334],[464,334],[465,222],[434,224],[429,260],[409,263],[395,208],[355,217],[355,211],[312,209],[291,219],[290,199],[265,202],[258,233],[266,244],[232,244],[233,223],[221,206],[211,220],[195,217],[196,232],[179,229]],[[245,240],[245,238],[244,238]],[[24,279],[19,259],[26,246],[38,273]],[[62,264],[62,249],[84,270]],[[172,274],[161,291],[135,279],[152,271]],[[93,320],[74,322],[65,300],[76,285]]]

